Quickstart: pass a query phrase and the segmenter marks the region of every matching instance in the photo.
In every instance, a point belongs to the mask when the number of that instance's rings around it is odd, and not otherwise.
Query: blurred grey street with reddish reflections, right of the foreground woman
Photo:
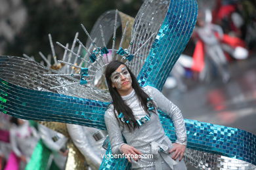
[[[175,103],[184,118],[236,127],[256,135],[256,57],[230,64],[231,79],[211,83],[188,80],[186,92],[174,88],[163,93]]]

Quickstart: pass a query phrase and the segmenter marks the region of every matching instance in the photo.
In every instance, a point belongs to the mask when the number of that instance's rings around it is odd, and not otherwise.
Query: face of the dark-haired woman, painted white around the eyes
[[[117,89],[117,92],[129,92],[132,90],[132,80],[129,71],[125,65],[120,65],[111,75],[112,87]]]

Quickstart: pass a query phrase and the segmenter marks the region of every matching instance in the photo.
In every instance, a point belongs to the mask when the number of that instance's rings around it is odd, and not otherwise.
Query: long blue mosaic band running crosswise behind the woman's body
[[[15,86],[0,78],[0,111],[17,118],[79,124],[106,129],[104,112],[110,103]],[[161,110],[166,135],[175,141],[171,119]],[[185,120],[188,148],[256,164],[256,136],[247,131],[196,120]]]

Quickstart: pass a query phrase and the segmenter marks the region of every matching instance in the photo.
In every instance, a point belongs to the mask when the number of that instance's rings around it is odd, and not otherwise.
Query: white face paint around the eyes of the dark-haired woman
[[[111,80],[113,83],[117,84],[118,89],[121,89],[121,75],[125,76],[125,78],[127,78],[132,83],[131,75],[127,70],[127,67],[123,67],[121,68],[121,73],[114,71],[111,75]]]

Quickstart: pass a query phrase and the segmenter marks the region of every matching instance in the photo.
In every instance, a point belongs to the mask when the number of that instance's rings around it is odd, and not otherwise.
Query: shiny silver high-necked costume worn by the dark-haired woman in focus
[[[173,120],[177,135],[175,143],[186,145],[186,127],[181,110],[156,88],[146,86],[142,89],[153,99],[156,107],[167,113]],[[129,93],[129,95],[121,97],[133,110],[136,120],[147,115],[139,104],[135,90]],[[114,106],[112,104],[106,110],[104,119],[110,136],[112,154],[122,154],[120,147],[124,144],[123,137],[125,137],[127,144],[134,146],[144,155],[144,158],[141,158],[139,161],[131,159],[133,169],[160,169],[160,166],[162,169],[171,169],[172,165],[170,164],[173,164],[173,169],[186,169],[183,160],[174,161],[171,159],[171,155],[168,154],[172,143],[163,131],[158,114],[152,114],[148,122],[131,132],[128,127],[119,124],[119,120],[114,115]],[[165,149],[160,151],[160,148]],[[146,158],[146,154],[153,154],[153,158]]]

